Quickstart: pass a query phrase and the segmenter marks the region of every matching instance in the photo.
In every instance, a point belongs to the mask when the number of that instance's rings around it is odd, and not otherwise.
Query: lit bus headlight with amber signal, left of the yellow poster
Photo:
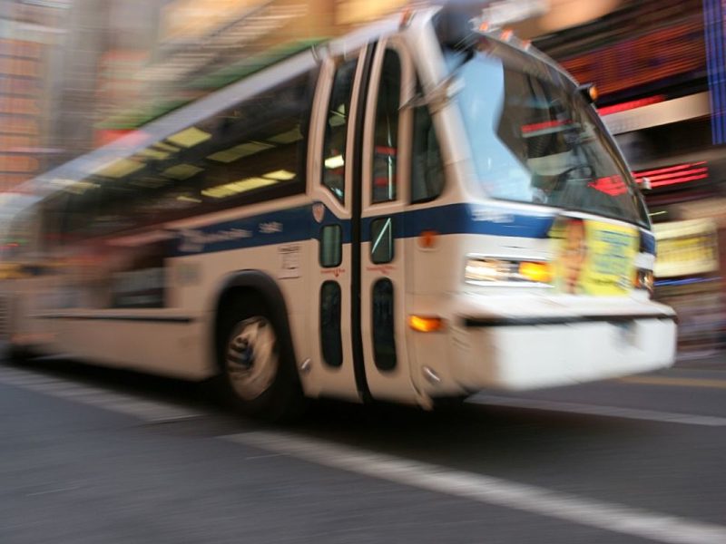
[[[467,282],[549,285],[552,274],[549,263],[488,257],[468,257],[464,278]]]

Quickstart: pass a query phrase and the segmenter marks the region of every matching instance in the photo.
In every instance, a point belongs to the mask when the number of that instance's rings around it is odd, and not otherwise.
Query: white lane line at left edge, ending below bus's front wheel
[[[150,401],[131,394],[75,384],[63,378],[16,368],[0,367],[0,383],[131,415],[147,423],[169,422],[202,415],[201,412],[184,406]]]

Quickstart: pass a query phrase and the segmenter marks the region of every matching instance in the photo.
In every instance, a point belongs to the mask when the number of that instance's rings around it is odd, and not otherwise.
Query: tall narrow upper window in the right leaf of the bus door
[[[371,202],[388,202],[397,197],[398,106],[401,93],[401,62],[388,49],[378,86],[376,127],[373,140],[373,180]]]

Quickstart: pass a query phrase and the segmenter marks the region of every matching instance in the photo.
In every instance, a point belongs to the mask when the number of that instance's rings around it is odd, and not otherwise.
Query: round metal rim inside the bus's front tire
[[[240,399],[252,401],[270,389],[279,364],[277,335],[267,318],[250,317],[232,329],[225,366]]]

